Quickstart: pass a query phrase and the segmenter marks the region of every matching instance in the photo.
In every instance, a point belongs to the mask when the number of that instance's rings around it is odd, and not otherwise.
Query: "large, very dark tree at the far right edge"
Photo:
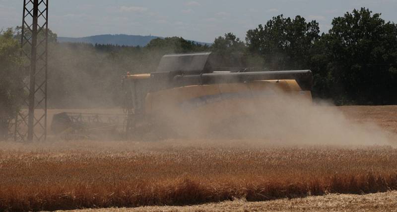
[[[367,8],[332,20],[323,35],[330,94],[339,104],[397,103],[397,26]]]

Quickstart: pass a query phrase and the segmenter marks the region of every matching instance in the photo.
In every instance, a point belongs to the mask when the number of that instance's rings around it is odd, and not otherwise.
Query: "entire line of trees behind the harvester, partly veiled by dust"
[[[23,63],[18,30],[0,35],[0,111],[19,107]],[[233,33],[201,45],[183,38],[154,39],[146,46],[58,43],[50,33],[49,107],[119,106],[122,76],[154,71],[167,53],[213,51],[246,67],[263,70],[310,69],[313,95],[337,105],[397,104],[397,25],[367,8],[332,20],[321,33],[319,23],[302,16],[278,15],[247,32],[245,41]]]

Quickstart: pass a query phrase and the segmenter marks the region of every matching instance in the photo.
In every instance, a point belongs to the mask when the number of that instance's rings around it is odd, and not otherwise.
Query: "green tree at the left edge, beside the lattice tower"
[[[0,33],[0,117],[12,118],[19,110],[23,92],[20,44],[9,28]]]

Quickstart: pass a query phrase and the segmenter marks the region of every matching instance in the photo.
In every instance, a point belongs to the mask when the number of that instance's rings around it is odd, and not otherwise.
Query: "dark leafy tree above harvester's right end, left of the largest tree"
[[[307,69],[319,33],[317,21],[278,15],[265,25],[249,30],[246,42],[249,52],[262,56],[271,70]]]

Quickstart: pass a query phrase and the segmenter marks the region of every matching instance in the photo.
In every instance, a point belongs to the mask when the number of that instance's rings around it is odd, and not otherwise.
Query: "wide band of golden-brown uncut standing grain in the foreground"
[[[67,146],[75,147],[0,151],[0,211],[263,201],[397,189],[397,150],[389,147],[179,141]]]

